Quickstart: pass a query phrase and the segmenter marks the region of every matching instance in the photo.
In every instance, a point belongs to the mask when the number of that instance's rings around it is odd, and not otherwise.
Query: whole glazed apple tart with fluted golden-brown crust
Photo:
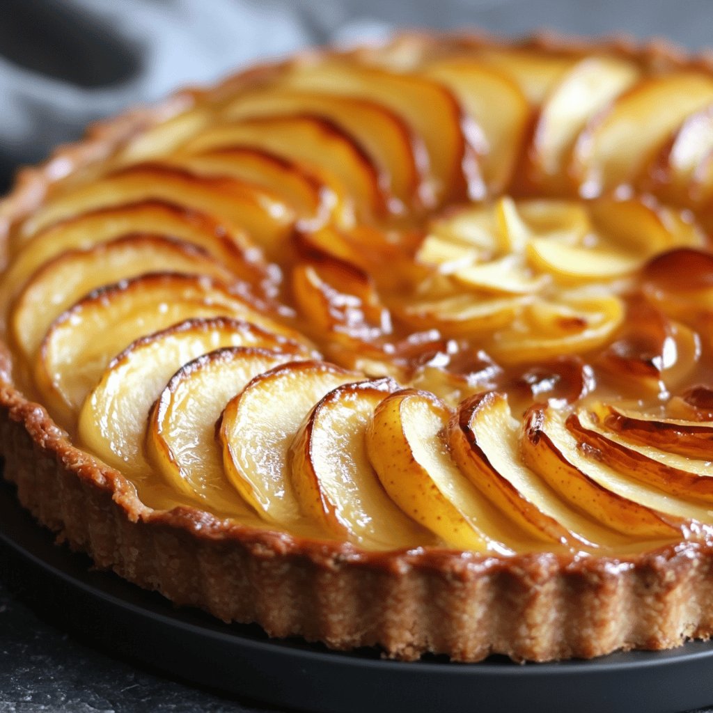
[[[713,66],[409,35],[97,125],[0,205],[19,500],[414,659],[713,633]]]

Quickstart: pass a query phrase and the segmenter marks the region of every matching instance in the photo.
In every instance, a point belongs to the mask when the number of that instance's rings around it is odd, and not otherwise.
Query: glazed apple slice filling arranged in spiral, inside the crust
[[[0,282],[14,378],[147,505],[496,557],[713,525],[709,73],[397,42],[194,100]]]

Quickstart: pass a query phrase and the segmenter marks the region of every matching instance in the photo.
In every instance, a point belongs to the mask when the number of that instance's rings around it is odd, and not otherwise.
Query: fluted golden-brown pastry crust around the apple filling
[[[409,34],[390,47],[433,41]],[[498,44],[485,36],[437,41]],[[713,71],[709,58],[686,58],[664,43],[642,48],[627,39],[573,43],[548,35],[519,44],[582,53],[605,48]],[[238,74],[210,92],[235,89],[277,67]],[[22,170],[0,203],[2,253],[11,226],[42,204],[53,183],[91,170],[204,94],[182,91],[97,124],[39,168]],[[496,558],[438,548],[376,553],[248,528],[190,507],[152,510],[121,473],[73,446],[46,410],[26,399],[13,383],[9,350],[0,349],[0,448],[4,477],[16,484],[21,504],[98,567],[178,605],[334,649],[377,645],[401,660],[426,652],[468,662],[494,653],[517,661],[589,658],[713,635],[713,542],[706,538],[618,558]]]

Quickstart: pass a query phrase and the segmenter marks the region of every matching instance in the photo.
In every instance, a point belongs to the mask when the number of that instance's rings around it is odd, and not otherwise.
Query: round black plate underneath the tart
[[[226,625],[58,547],[0,482],[0,541],[31,583],[41,615],[112,655],[223,692],[312,713],[449,711],[678,713],[713,702],[713,642],[588,661],[476,664],[441,657],[381,660],[371,649],[332,652],[270,640],[255,625]]]

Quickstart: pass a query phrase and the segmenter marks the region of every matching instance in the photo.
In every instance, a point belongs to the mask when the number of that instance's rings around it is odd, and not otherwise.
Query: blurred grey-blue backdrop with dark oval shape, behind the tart
[[[90,120],[304,46],[399,27],[665,36],[713,46],[713,0],[0,0],[0,190]]]

